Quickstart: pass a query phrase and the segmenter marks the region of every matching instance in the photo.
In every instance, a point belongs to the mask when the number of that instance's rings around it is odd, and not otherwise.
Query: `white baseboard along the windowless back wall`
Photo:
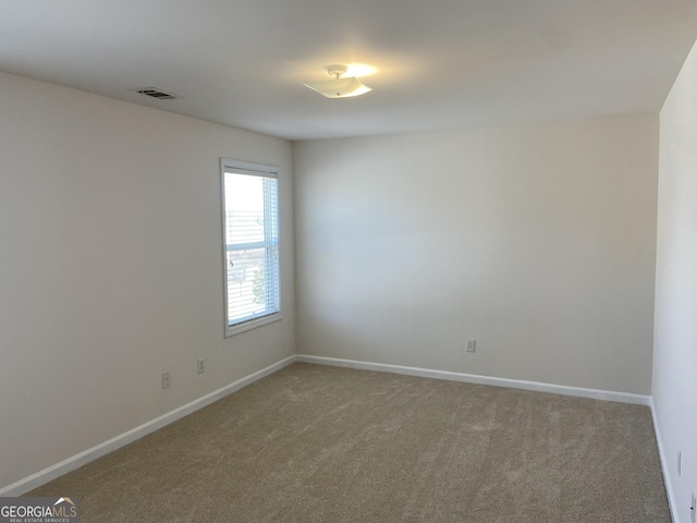
[[[358,362],[355,360],[341,360],[337,357],[311,356],[298,354],[297,362],[315,363],[319,365],[332,365],[335,367],[359,368],[364,370],[377,370],[382,373],[405,374],[423,378],[448,379],[466,384],[491,385],[494,387],[509,387],[512,389],[534,390],[537,392],[550,392],[553,394],[575,396],[578,398],[591,398],[594,400],[619,401],[637,405],[649,405],[650,397],[631,394],[627,392],[613,392],[598,389],[583,389],[580,387],[566,387],[564,385],[541,384],[525,381],[522,379],[496,378],[476,374],[451,373],[448,370],[433,370],[430,368],[405,367],[402,365],[389,365],[386,363]]]

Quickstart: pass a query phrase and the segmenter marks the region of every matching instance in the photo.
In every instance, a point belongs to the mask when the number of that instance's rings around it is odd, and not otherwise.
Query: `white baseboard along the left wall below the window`
[[[22,496],[29,490],[33,490],[41,485],[56,479],[57,477],[62,476],[63,474],[68,474],[75,469],[78,469],[90,461],[94,461],[102,455],[108,454],[109,452],[113,452],[121,447],[129,445],[136,439],[139,439],[144,436],[147,436],[155,430],[173,423],[192,412],[198,411],[210,403],[224,398],[232,392],[246,387],[247,385],[253,384],[270,374],[273,374],[280,370],[283,367],[289,366],[295,362],[295,355],[289,356],[285,360],[281,360],[280,362],[274,363],[273,365],[269,365],[261,370],[257,370],[254,374],[245,376],[221,389],[218,389],[209,394],[206,394],[197,400],[192,401],[179,409],[174,409],[167,414],[163,414],[155,419],[151,419],[143,425],[135,427],[126,433],[123,433],[114,438],[105,441],[103,443],[99,443],[90,449],[87,449],[78,454],[75,454],[66,460],[61,461],[54,465],[49,466],[48,469],[44,469],[42,471],[37,472],[36,474],[32,474],[24,479],[20,479],[19,482],[13,483],[7,487],[0,488],[0,497],[12,497],[12,496]]]

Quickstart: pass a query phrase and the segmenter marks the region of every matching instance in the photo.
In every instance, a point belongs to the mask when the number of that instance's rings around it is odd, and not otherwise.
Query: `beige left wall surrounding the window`
[[[0,488],[294,354],[289,142],[7,74],[0,133]],[[228,339],[221,157],[284,233],[284,319]]]

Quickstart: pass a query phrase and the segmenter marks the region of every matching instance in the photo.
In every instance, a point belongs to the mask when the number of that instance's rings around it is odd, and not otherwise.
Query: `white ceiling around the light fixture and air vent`
[[[0,2],[0,71],[290,139],[657,112],[695,38],[695,0]]]

